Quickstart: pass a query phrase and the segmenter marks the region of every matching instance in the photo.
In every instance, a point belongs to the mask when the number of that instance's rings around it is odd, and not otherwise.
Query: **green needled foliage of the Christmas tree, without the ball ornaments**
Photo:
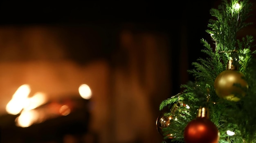
[[[240,7],[236,7],[237,4]],[[210,110],[210,119],[217,126],[220,132],[219,143],[256,143],[256,60],[253,48],[254,37],[246,35],[238,39],[238,32],[243,28],[252,25],[247,19],[251,16],[252,4],[249,0],[222,0],[218,9],[212,8],[206,30],[215,41],[215,46],[204,39],[201,39],[203,49],[201,52],[207,58],[198,58],[193,62],[193,69],[188,73],[195,77],[195,82],[188,82],[181,85],[184,89],[182,93],[168,98],[159,106],[163,108],[177,102],[182,102],[189,108],[181,106],[178,112],[171,113],[175,117],[172,123],[163,131],[165,134],[175,134],[173,141],[183,142],[183,132],[186,125],[195,119],[200,106],[207,106]],[[239,71],[245,75],[249,88],[246,96],[241,97],[239,102],[233,102],[219,98],[214,89],[215,78],[226,70],[227,62],[236,59]],[[236,85],[236,86],[239,86]],[[170,115],[170,114],[169,114]],[[234,136],[229,136],[227,130],[235,132]],[[167,138],[167,137],[166,137]]]

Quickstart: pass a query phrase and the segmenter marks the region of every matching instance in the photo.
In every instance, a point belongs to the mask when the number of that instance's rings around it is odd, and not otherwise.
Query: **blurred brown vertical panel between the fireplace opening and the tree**
[[[159,104],[171,92],[170,43],[159,32],[122,29],[112,68],[112,143],[157,143]]]

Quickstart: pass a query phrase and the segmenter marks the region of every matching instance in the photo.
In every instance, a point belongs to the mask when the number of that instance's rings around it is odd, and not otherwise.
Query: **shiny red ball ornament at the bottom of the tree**
[[[184,130],[185,143],[218,143],[220,134],[215,124],[206,117],[198,117]]]

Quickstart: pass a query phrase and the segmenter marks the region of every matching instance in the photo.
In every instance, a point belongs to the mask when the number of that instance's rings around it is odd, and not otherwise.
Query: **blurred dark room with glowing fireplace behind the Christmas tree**
[[[1,143],[161,143],[218,2],[0,2]]]

